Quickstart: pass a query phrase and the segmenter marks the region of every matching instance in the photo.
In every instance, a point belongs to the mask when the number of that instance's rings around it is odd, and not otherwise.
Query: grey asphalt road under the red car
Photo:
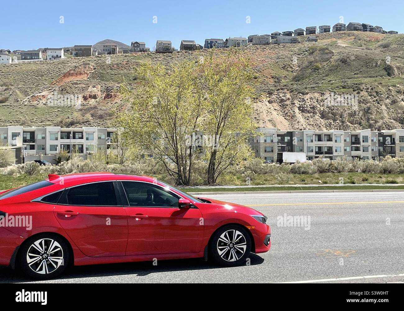
[[[60,283],[393,282],[404,281],[404,192],[220,194],[248,205],[271,225],[268,253],[223,268],[199,259],[73,267]],[[306,217],[297,226],[287,216]],[[304,219],[304,218],[303,218]],[[342,279],[342,280],[341,280]],[[0,282],[32,282],[0,267]]]

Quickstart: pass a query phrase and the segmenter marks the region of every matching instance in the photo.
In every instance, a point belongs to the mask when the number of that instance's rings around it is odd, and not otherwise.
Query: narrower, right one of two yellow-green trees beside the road
[[[206,79],[203,133],[215,144],[204,146],[209,161],[208,184],[215,184],[217,177],[229,165],[252,156],[248,138],[255,135],[255,123],[251,119],[255,74],[248,59],[236,49],[215,57],[211,51],[200,63]]]

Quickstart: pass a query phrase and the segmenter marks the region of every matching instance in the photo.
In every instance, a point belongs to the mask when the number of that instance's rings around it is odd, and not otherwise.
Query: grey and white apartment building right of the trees
[[[282,152],[305,152],[309,160],[318,157],[336,160],[340,157],[376,159],[404,157],[404,129],[383,131],[280,131],[260,127],[262,136],[250,138],[255,157],[268,162],[282,162]]]

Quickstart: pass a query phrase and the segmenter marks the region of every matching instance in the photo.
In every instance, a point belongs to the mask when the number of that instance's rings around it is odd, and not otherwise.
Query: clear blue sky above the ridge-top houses
[[[36,4],[38,3],[38,4]],[[403,0],[385,1],[42,1],[20,0],[0,11],[0,48],[30,50],[95,44],[112,39],[130,45],[205,38],[247,37],[306,26],[334,25],[340,16],[404,33]],[[277,9],[276,6],[279,6]],[[275,8],[274,8],[275,7]],[[63,16],[64,23],[60,23]],[[153,17],[157,23],[153,23]],[[247,16],[250,23],[246,23]]]

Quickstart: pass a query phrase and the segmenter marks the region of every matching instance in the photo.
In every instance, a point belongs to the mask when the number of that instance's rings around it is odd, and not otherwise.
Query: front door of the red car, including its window
[[[126,255],[195,253],[203,238],[202,214],[178,208],[179,195],[158,184],[122,181],[128,215]]]

